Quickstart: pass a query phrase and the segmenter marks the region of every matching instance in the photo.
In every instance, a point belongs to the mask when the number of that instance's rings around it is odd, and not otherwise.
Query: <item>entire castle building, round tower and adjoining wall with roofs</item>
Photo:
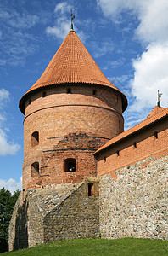
[[[23,189],[9,250],[100,235],[167,239],[168,108],[124,131],[126,107],[71,30],[20,99]]]

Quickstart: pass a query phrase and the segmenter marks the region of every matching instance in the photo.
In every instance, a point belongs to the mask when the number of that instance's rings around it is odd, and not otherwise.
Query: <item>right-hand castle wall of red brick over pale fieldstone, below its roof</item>
[[[96,154],[102,237],[168,239],[167,128],[160,119]]]

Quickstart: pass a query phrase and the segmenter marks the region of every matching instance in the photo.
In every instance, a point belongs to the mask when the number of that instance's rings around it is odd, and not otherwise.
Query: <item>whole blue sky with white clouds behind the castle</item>
[[[168,102],[167,0],[0,0],[0,189],[21,189],[18,103],[74,30],[104,75],[126,94],[125,130]]]

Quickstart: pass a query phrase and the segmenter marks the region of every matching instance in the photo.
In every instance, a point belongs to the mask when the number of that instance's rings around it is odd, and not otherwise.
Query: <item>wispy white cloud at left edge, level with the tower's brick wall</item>
[[[3,115],[4,102],[9,100],[8,90],[0,90],[0,155],[16,154],[20,150],[20,145],[13,141],[8,141],[8,128],[3,127],[5,116]]]

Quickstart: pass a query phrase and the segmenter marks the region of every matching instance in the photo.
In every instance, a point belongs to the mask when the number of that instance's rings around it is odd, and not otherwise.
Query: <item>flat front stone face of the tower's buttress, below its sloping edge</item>
[[[44,218],[44,241],[98,237],[98,196],[87,195],[87,183],[73,191]]]

